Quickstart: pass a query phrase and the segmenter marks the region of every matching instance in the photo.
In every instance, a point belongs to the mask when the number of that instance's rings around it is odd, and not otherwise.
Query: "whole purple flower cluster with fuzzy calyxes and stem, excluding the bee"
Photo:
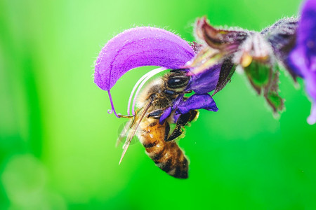
[[[316,0],[305,1],[299,20],[284,18],[261,32],[216,29],[201,18],[197,20],[195,34],[202,44],[189,44],[169,31],[154,27],[136,27],[112,38],[101,50],[95,68],[95,83],[108,92],[111,112],[119,117],[111,88],[124,73],[140,66],[161,68],[140,78],[131,97],[138,85],[136,95],[145,81],[166,69],[183,69],[190,76],[186,91],[195,93],[188,99],[180,95],[164,111],[161,123],[171,111],[181,114],[192,109],[217,111],[209,92],[216,94],[222,90],[237,66],[273,111],[281,111],[283,99],[278,94],[278,63],[281,63],[294,80],[297,77],[305,80],[306,91],[312,99],[308,123],[316,123]],[[133,115],[134,105],[135,99]]]

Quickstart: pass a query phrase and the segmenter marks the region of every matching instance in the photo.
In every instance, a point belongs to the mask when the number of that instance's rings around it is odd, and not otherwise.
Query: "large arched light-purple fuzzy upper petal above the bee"
[[[140,66],[178,69],[192,59],[192,47],[176,34],[154,27],[137,27],[112,38],[96,61],[94,82],[110,90],[127,71]]]

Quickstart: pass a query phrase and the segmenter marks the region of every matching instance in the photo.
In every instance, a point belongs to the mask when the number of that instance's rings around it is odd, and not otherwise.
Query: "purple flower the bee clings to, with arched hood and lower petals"
[[[112,38],[101,50],[96,61],[94,82],[102,90],[106,90],[110,97],[112,111],[117,116],[110,94],[111,88],[115,85],[117,80],[121,78],[127,71],[140,66],[162,66],[162,68],[154,69],[146,73],[132,90],[135,92],[136,87],[138,94],[140,88],[145,82],[154,74],[164,71],[166,69],[181,69],[185,64],[195,56],[195,48],[199,46],[190,45],[179,36],[166,31],[164,29],[154,27],[137,27],[123,31]],[[218,82],[220,65],[213,66],[209,71],[205,71],[203,75],[193,75],[190,78],[187,91],[194,90],[196,94],[188,99],[181,95],[176,99],[178,106],[166,109],[164,118],[168,117],[172,110],[179,108],[180,113],[184,113],[186,106],[190,109],[207,109],[217,111],[217,107],[211,96],[207,97],[206,93],[215,89]],[[209,95],[209,94],[207,94]],[[129,99],[129,104],[131,102]],[[198,102],[197,98],[203,99]],[[133,115],[135,100],[133,101]],[[216,107],[216,108],[215,108]],[[187,111],[186,110],[186,111]],[[170,113],[169,113],[170,111]],[[129,106],[128,106],[129,115]],[[119,117],[119,116],[117,116]]]

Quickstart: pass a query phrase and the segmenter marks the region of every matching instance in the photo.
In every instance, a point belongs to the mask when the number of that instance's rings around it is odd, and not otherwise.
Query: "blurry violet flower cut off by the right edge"
[[[309,124],[316,123],[316,0],[305,1],[298,22],[296,47],[289,55],[291,66],[303,76],[312,99]]]

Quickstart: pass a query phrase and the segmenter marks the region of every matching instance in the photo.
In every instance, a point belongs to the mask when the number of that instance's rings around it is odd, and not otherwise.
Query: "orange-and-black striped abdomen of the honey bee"
[[[154,160],[157,167],[169,175],[180,179],[187,178],[188,162],[175,141],[164,141],[166,125],[158,120],[146,118],[140,123],[138,138],[145,146],[147,155]]]

